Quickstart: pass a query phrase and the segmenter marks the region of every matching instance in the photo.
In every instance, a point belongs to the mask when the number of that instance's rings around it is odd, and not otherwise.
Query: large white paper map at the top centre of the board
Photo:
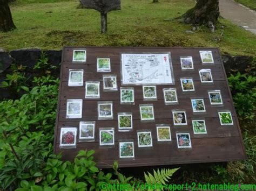
[[[122,54],[122,84],[172,84],[168,53]]]

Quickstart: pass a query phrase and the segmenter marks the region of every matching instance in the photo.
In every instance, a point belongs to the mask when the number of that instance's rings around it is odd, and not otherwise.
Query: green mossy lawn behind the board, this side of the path
[[[22,1],[22,2],[21,2]],[[219,47],[222,53],[253,55],[255,36],[220,19],[217,32],[205,27],[187,33],[190,25],[176,18],[194,6],[193,0],[122,0],[122,10],[108,14],[108,32],[100,33],[100,14],[91,9],[76,9],[78,1],[28,3],[18,0],[11,5],[17,30],[0,33],[0,47],[11,50],[25,47],[62,49],[76,46],[172,46]],[[223,29],[221,26],[224,26]]]

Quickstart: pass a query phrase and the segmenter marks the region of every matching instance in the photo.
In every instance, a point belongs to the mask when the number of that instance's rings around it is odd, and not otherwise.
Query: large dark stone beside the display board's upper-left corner
[[[17,65],[27,66],[33,68],[40,58],[41,49],[39,48],[23,48],[15,49],[10,52],[12,58],[15,59]]]

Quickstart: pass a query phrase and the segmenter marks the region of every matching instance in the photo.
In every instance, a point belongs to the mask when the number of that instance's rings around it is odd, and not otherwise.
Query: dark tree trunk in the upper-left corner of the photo
[[[7,32],[16,29],[11,17],[8,0],[0,0],[0,31]]]

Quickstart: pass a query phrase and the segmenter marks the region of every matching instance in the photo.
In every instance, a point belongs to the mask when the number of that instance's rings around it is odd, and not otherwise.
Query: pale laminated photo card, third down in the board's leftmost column
[[[83,100],[66,100],[66,118],[82,118]]]

